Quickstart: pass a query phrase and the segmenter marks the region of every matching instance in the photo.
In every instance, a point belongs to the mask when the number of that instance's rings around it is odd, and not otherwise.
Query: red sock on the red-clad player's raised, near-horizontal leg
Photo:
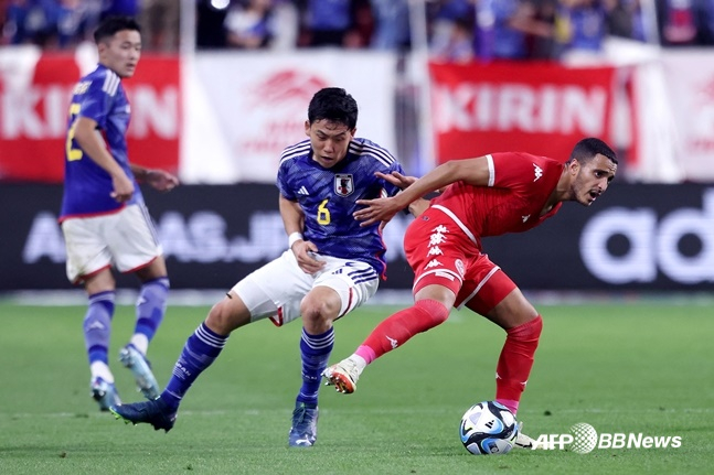
[[[449,317],[449,309],[436,300],[424,299],[380,323],[366,337],[363,346],[374,350],[374,359],[404,345],[417,333],[426,332]],[[367,361],[370,363],[370,361]]]

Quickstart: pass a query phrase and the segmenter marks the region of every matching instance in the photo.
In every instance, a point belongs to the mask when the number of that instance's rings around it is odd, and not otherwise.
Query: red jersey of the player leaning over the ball
[[[456,182],[431,201],[431,207],[466,227],[479,246],[480,237],[529,230],[561,208],[557,203],[541,216],[563,173],[562,162],[530,153],[493,153],[487,159],[488,186]]]

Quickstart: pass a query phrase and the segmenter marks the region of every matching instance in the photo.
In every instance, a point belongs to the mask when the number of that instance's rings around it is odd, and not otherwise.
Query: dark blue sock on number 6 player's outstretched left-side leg
[[[227,339],[227,336],[212,332],[202,323],[187,339],[183,352],[173,366],[171,379],[161,392],[161,399],[171,408],[178,409],[193,381],[219,357]]]

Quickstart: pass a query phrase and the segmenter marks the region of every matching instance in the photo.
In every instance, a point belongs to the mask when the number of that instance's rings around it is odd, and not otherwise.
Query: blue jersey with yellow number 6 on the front
[[[310,141],[288,147],[280,158],[280,194],[305,213],[302,235],[321,255],[366,262],[383,278],[386,247],[379,224],[361,227],[352,214],[358,199],[392,196],[398,188],[375,172],[404,173],[390,152],[366,139],[353,139],[348,154],[330,169],[312,159]]]

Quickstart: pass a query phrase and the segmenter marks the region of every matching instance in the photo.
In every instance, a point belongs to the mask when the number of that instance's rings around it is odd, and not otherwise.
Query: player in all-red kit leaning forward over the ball
[[[495,400],[515,414],[543,323],[515,283],[482,252],[481,238],[529,230],[566,201],[589,206],[616,172],[615,152],[587,138],[565,163],[529,153],[492,153],[444,163],[419,180],[393,173],[390,179],[404,192],[358,202],[364,208],[354,218],[362,225],[386,223],[422,196],[444,190],[404,237],[415,302],[380,323],[352,356],[326,369],[328,384],[353,392],[366,365],[444,323],[451,306],[466,306],[507,333],[495,369]],[[530,438],[521,439],[516,445],[527,445]]]

